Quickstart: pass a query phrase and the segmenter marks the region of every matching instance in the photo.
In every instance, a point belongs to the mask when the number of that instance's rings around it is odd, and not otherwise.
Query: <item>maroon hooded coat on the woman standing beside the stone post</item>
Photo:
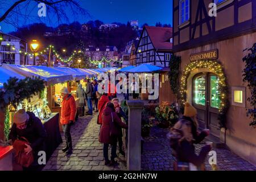
[[[113,115],[113,121],[116,126],[119,126],[125,129],[128,128],[128,126],[125,123],[123,123],[121,119],[118,117],[117,113],[115,113],[115,111],[113,111],[112,108],[107,106],[102,114],[102,126],[100,131],[101,143],[113,144],[115,141],[117,141],[117,137],[110,137],[110,122],[112,122],[111,113]]]

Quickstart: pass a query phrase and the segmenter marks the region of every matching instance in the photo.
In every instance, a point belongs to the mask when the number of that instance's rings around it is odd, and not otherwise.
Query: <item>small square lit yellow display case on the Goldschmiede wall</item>
[[[245,87],[232,86],[232,105],[245,107]]]

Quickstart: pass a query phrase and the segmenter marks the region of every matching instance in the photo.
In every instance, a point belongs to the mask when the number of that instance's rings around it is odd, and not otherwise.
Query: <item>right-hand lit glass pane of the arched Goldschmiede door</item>
[[[220,108],[220,92],[218,85],[218,77],[210,76],[210,106],[214,108]]]

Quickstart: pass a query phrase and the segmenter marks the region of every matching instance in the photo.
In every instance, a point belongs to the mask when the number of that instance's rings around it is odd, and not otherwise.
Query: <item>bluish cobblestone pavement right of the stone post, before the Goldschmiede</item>
[[[145,138],[142,154],[142,170],[144,171],[169,171],[173,170],[174,157],[166,139],[167,129],[152,127],[150,137]],[[196,145],[196,153],[199,154],[204,141]],[[155,146],[155,147],[154,147]],[[155,149],[154,149],[155,148]],[[236,154],[225,148],[214,149],[217,152],[217,169],[219,171],[256,171],[256,167],[241,159]],[[207,160],[207,170],[212,170]]]

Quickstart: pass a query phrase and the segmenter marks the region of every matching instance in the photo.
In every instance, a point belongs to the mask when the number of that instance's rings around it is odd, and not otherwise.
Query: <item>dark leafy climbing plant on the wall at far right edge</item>
[[[243,81],[247,82],[251,92],[251,96],[247,98],[251,105],[251,109],[247,109],[247,117],[250,115],[252,119],[250,126],[256,127],[256,43],[248,51],[251,53],[243,57],[243,62],[246,64],[243,69]]]

